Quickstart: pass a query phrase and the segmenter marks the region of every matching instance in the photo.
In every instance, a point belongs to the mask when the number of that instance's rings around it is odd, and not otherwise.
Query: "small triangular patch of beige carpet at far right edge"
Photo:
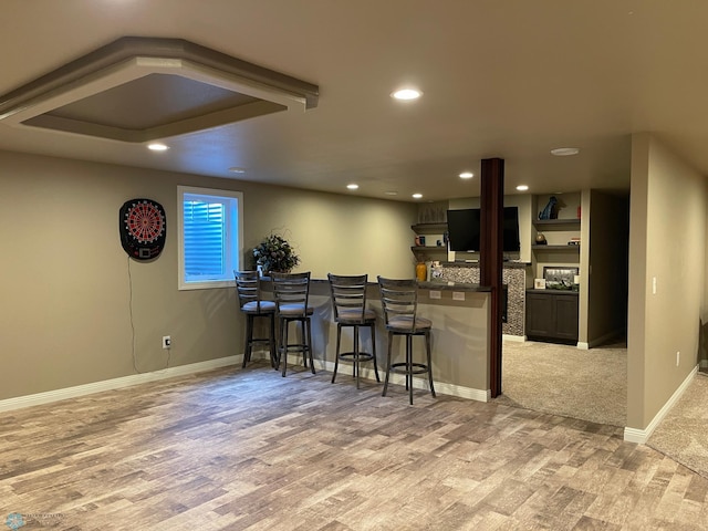
[[[708,478],[708,376],[694,377],[647,446]]]

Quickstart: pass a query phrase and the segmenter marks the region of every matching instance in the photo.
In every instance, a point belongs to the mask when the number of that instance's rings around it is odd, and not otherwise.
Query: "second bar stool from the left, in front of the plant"
[[[273,294],[275,296],[275,314],[279,326],[279,360],[283,364],[282,375],[288,369],[288,353],[302,352],[302,364],[314,373],[312,360],[312,323],[310,316],[314,309],[308,304],[310,296],[310,272],[305,273],[275,273],[271,272],[273,281]],[[288,337],[290,323],[300,324],[300,342],[291,343]]]

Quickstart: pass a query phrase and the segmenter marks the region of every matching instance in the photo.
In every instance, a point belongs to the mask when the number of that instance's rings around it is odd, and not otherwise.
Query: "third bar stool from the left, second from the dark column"
[[[330,293],[332,295],[332,309],[334,311],[334,322],[336,323],[336,352],[334,354],[334,374],[332,383],[336,378],[336,371],[340,360],[352,360],[352,376],[356,378],[356,388],[360,388],[360,363],[374,362],[374,374],[376,382],[378,367],[376,365],[376,314],[366,308],[366,281],[367,274],[360,275],[337,275],[327,273],[330,281]],[[352,352],[340,352],[342,345],[342,327],[352,326],[353,347]],[[360,352],[360,329],[368,327],[372,337],[372,352]]]

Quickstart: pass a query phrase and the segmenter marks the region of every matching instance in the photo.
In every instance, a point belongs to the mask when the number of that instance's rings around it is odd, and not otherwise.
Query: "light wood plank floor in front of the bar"
[[[0,414],[0,527],[708,528],[708,480],[620,428],[330,377],[257,364]]]

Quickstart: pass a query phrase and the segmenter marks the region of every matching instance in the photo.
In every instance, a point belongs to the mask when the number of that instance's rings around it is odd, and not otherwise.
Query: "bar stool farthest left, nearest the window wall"
[[[246,345],[243,348],[243,367],[251,361],[254,343],[268,342],[270,350],[270,365],[278,368],[275,352],[275,303],[261,300],[261,278],[258,271],[233,271],[236,289],[239,294],[241,312],[246,314]],[[268,337],[253,337],[253,323],[257,317],[269,321]]]

